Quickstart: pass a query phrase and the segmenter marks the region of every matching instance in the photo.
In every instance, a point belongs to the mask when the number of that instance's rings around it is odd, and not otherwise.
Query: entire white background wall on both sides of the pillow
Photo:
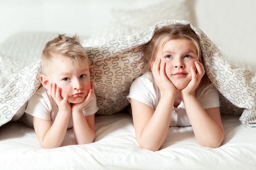
[[[143,7],[155,0],[0,0],[0,43],[19,31],[54,31],[91,36],[113,20],[111,9]],[[194,26],[230,57],[254,62],[255,0],[189,0]],[[156,14],[157,15],[157,14]]]

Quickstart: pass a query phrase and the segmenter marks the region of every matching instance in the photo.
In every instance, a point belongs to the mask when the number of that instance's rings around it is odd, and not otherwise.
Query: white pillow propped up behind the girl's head
[[[162,0],[137,9],[112,9],[115,21],[124,26],[144,29],[164,20],[191,22],[191,7],[188,0]]]

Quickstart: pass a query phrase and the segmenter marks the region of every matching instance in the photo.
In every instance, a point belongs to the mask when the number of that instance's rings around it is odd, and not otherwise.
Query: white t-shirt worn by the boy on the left
[[[83,107],[83,114],[85,116],[92,115],[99,110],[97,106],[96,95],[94,94],[90,102]],[[42,86],[38,88],[36,93],[29,99],[25,113],[21,117],[21,121],[27,126],[33,128],[32,116],[40,119],[54,121],[58,113],[58,106],[54,99],[49,95],[47,90]],[[70,121],[67,128],[72,128],[72,116],[70,114]]]

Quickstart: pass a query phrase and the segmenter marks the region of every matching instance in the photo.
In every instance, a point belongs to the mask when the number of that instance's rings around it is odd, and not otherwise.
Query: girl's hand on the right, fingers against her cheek
[[[201,82],[202,77],[204,76],[204,66],[199,61],[195,61],[195,67],[197,72],[191,67],[191,81],[189,84],[183,88],[180,92],[182,95],[194,95],[195,89],[198,87],[198,85]]]

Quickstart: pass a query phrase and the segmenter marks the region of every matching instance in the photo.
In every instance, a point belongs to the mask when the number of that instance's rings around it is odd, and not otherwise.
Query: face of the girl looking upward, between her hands
[[[160,48],[157,58],[166,62],[166,76],[177,89],[181,90],[191,80],[190,68],[196,71],[194,62],[198,60],[198,53],[193,42],[174,39],[166,42],[162,50]]]

